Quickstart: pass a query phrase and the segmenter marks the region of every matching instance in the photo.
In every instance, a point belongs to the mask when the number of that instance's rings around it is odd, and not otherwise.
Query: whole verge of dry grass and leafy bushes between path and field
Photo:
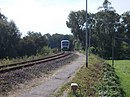
[[[73,82],[78,84],[76,93],[73,93],[70,87]],[[52,97],[124,97],[124,95],[115,69],[103,59],[91,55],[89,67],[86,68],[84,64],[75,77]]]

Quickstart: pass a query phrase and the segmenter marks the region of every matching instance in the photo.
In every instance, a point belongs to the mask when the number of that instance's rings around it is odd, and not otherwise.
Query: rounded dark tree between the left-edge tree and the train
[[[28,31],[27,36],[23,37],[19,45],[20,56],[36,55],[44,46],[47,46],[47,39],[39,32]]]

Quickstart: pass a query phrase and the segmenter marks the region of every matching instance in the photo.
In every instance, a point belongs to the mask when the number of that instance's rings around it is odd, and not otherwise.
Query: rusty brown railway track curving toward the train
[[[52,56],[45,57],[45,58],[3,65],[3,66],[0,66],[0,73],[5,73],[5,72],[18,70],[18,69],[26,68],[29,66],[49,62],[49,61],[54,61],[54,60],[69,56],[70,54],[72,54],[72,53],[59,53],[59,54],[52,55]]]

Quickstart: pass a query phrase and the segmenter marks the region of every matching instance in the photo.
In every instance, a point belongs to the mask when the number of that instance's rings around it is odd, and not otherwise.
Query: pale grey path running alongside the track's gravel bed
[[[85,56],[77,53],[79,57],[72,63],[66,65],[64,68],[58,70],[50,79],[42,84],[33,87],[31,90],[22,93],[15,97],[50,97],[53,93],[61,87],[64,83],[68,82],[69,78],[79,69],[85,62]]]

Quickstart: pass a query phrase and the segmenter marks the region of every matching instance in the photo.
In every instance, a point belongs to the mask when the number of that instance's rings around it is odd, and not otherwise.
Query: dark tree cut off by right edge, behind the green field
[[[117,27],[117,50],[116,56],[119,59],[130,58],[130,11],[124,12],[120,17]]]

